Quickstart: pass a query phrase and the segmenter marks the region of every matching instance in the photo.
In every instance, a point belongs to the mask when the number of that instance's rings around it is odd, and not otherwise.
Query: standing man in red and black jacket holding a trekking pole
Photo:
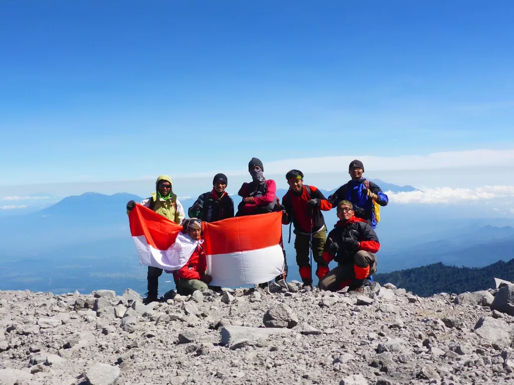
[[[313,288],[313,275],[309,263],[310,248],[316,262],[316,275],[322,279],[329,271],[328,263],[323,259],[326,242],[325,219],[321,211],[329,211],[332,204],[327,201],[320,190],[303,184],[303,172],[290,170],[286,174],[289,190],[282,198],[285,214],[282,223],[295,225],[296,263],[298,264],[303,287]]]

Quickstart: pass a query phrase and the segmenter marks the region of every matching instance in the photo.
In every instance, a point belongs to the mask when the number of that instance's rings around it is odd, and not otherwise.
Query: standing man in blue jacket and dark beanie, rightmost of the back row
[[[375,183],[362,178],[364,174],[364,164],[359,160],[354,160],[348,166],[348,174],[352,180],[337,189],[334,194],[328,197],[332,207],[337,207],[340,201],[346,200],[354,204],[355,216],[364,219],[373,228],[377,226],[373,201],[380,206],[386,206],[389,198],[382,192]]]

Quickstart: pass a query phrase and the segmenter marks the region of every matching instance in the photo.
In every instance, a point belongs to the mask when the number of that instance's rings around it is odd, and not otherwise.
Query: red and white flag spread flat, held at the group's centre
[[[282,213],[204,223],[207,274],[214,286],[268,282],[282,274]]]

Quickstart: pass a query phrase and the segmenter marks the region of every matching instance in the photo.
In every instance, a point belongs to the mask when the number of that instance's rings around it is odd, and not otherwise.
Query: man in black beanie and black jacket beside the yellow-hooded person
[[[212,191],[200,195],[189,207],[189,218],[198,218],[205,222],[216,222],[234,216],[234,201],[225,189],[228,179],[225,174],[216,174],[212,180]]]

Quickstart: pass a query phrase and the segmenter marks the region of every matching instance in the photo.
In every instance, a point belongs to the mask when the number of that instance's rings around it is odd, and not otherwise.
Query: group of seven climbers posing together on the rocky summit
[[[259,159],[250,160],[248,171],[252,181],[243,183],[238,191],[242,201],[237,206],[235,216],[283,211],[282,223],[292,224],[295,228],[296,260],[303,287],[311,290],[313,286],[313,266],[309,261],[311,253],[317,264],[316,276],[322,290],[336,291],[348,286],[348,291],[361,293],[366,279],[376,272],[375,253],[380,248],[374,230],[378,222],[377,205],[388,204],[388,197],[380,187],[362,177],[362,162],[354,160],[350,163],[348,174],[352,179],[328,199],[315,186],[303,183],[302,171],[288,171],[286,180],[289,189],[282,198],[282,204],[276,196],[275,181],[264,177],[264,165]],[[212,184],[213,189],[200,195],[188,209],[188,220],[185,220],[183,207],[173,193],[173,183],[168,176],[159,176],[156,191],[150,198],[141,202],[163,217],[182,224],[182,232],[192,240],[198,241],[189,262],[173,273],[177,291],[183,294],[210,287],[208,284],[211,277],[206,274],[206,256],[200,240],[201,221],[216,222],[234,217],[234,202],[226,192],[226,175],[216,174]],[[135,201],[128,202],[127,213],[135,205]],[[339,221],[327,238],[327,228],[321,211],[329,211],[334,207],[337,208]],[[337,262],[338,266],[330,270],[328,264],[332,260]],[[158,277],[161,274],[160,268],[148,268],[146,302],[157,300]],[[284,252],[284,274],[278,276],[276,281],[287,287],[286,277],[287,263]],[[267,282],[260,285],[262,287],[266,284]]]

